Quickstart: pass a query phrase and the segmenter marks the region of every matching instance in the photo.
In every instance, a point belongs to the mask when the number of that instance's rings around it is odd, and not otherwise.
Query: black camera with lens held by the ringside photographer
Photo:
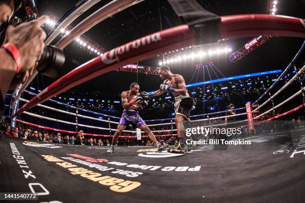
[[[12,25],[16,27],[17,25],[23,23],[23,22],[28,22],[33,19],[37,18],[37,15],[35,13],[33,14],[28,14],[24,18],[19,18],[17,16],[14,16],[8,23],[7,25]],[[1,31],[4,32],[6,31],[5,29],[2,29]],[[0,32],[1,33],[1,32]],[[2,37],[4,39],[4,36]],[[3,41],[1,40],[1,43]],[[50,78],[57,78],[61,75],[61,67],[65,62],[65,55],[62,50],[48,45],[45,46],[43,49],[43,53],[41,55],[40,60],[38,61],[38,65],[36,66],[36,70],[47,77]]]

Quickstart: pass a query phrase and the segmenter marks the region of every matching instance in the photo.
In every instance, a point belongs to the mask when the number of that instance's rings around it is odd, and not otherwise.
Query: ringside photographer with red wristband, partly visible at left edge
[[[15,4],[16,3],[16,4]],[[0,0],[0,26],[8,23],[20,6],[18,0]],[[43,49],[45,32],[40,26],[47,16],[43,15],[16,27],[7,26],[0,48],[0,114],[4,109],[4,99],[8,90],[17,88],[32,75]]]

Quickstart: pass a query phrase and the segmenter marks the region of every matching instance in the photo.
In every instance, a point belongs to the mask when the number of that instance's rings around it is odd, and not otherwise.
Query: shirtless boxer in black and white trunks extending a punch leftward
[[[180,145],[183,143],[181,130],[185,131],[182,122],[190,121],[190,111],[192,110],[193,105],[195,105],[195,102],[189,97],[186,91],[185,81],[181,75],[171,73],[168,66],[162,66],[159,70],[159,74],[160,78],[164,80],[163,84],[160,85],[160,89],[143,97],[159,96],[164,92],[171,92],[173,94],[175,97],[175,124],[177,127],[178,142],[175,143],[174,148],[169,151],[173,153],[184,153],[185,150]]]

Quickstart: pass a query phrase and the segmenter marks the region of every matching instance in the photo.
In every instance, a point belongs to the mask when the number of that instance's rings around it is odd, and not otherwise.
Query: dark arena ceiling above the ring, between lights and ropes
[[[245,13],[267,13],[268,0],[197,0],[204,8],[216,13],[217,15],[232,15]],[[304,18],[305,1],[304,0],[278,0],[277,14],[289,15]],[[39,0],[37,8],[39,15],[54,14],[61,17],[77,0],[69,1],[54,1],[54,0]],[[99,7],[110,2],[110,0],[102,0],[94,7],[86,11],[71,25],[75,26],[85,17],[93,13]],[[111,50],[126,42],[137,39],[141,36],[150,34],[160,29],[166,29],[175,25],[181,24],[180,20],[170,7],[167,0],[145,0],[126,10],[111,16],[102,21],[88,32],[86,36],[93,39],[106,50]],[[251,37],[228,40],[226,43],[232,46],[232,52],[241,48],[245,43],[251,40]],[[234,76],[248,74],[254,72],[282,69],[284,70],[295,56],[301,47],[304,39],[288,38],[288,37],[273,37],[261,47],[239,60],[236,63],[231,63],[227,56],[219,56],[207,59],[206,61],[190,61],[185,63],[175,64],[171,66],[172,72],[181,74],[186,83],[188,83],[195,72],[194,64],[207,63],[212,61],[218,69],[226,76]],[[64,72],[68,72],[76,68],[78,64],[94,58],[95,56],[81,49],[77,44],[72,43],[64,50],[67,63],[64,67]],[[303,56],[300,57],[304,59]],[[137,63],[137,62],[135,62]],[[304,63],[301,62],[300,66]],[[149,65],[157,67],[158,58],[154,57],[150,60],[140,61],[141,65]],[[215,79],[215,75],[211,75],[211,79]],[[199,75],[198,81],[203,80],[203,72]],[[41,76],[33,81],[33,86],[45,88],[54,80]],[[68,94],[86,94],[99,91],[102,95],[118,95],[124,90],[129,89],[132,82],[140,84],[140,88],[145,91],[158,89],[162,82],[158,76],[117,72],[113,71],[102,75],[94,80],[86,82],[80,86],[68,91]]]

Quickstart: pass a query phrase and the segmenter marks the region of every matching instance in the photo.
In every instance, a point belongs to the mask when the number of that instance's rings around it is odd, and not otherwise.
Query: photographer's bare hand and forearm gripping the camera
[[[10,53],[0,50],[0,88],[3,99],[9,88],[16,88],[34,70],[44,48],[45,32],[40,26],[48,17],[43,15],[35,20],[24,22],[16,27],[8,26],[3,44],[12,43],[20,54],[21,68],[18,74],[17,64]],[[6,67],[4,67],[4,65]],[[8,67],[7,67],[8,66]]]

